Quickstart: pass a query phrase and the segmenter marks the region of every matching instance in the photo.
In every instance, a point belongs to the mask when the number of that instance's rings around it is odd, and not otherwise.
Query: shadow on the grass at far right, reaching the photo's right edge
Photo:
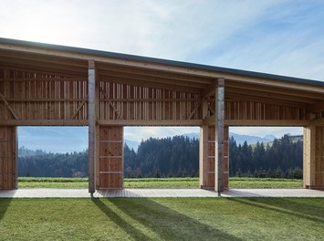
[[[308,219],[324,224],[323,205],[313,205],[307,202],[295,202],[290,198],[233,198],[240,204],[253,205],[269,211],[275,211],[284,215],[293,215],[298,218]],[[303,199],[301,199],[302,201]],[[305,199],[308,200],[308,199]],[[320,201],[319,201],[320,202]]]

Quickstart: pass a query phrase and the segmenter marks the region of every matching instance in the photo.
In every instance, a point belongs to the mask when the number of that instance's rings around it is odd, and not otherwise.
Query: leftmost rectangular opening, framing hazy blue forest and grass
[[[88,187],[88,127],[18,127],[17,133],[18,188]]]

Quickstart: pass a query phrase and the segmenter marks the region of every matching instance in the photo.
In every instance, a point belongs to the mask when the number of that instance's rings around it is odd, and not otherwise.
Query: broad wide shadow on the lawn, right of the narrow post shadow
[[[107,202],[150,228],[163,240],[242,240],[149,198],[112,198]]]

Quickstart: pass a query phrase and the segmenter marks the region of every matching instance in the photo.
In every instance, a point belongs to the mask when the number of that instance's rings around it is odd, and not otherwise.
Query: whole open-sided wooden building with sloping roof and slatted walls
[[[306,69],[307,71],[307,69]],[[124,126],[199,126],[200,184],[228,186],[228,127],[304,127],[304,187],[324,187],[324,83],[0,38],[0,189],[17,126],[89,126],[89,193],[123,186]]]

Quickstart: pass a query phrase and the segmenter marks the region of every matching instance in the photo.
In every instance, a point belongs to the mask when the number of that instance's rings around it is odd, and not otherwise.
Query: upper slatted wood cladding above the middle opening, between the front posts
[[[199,120],[199,103],[199,94],[101,81],[99,119]]]

